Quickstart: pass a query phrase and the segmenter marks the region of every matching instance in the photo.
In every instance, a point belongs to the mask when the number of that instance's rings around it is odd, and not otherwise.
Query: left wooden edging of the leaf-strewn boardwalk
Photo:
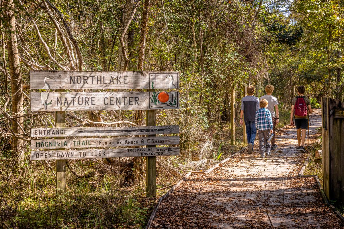
[[[247,149],[247,146],[244,147],[244,148],[242,148],[242,149],[240,149],[239,151],[233,153],[232,156],[235,155],[235,154],[238,154],[238,153],[240,153],[240,152],[242,152],[242,151],[244,151],[245,149]],[[176,183],[167,193],[165,193],[165,195],[163,195],[162,197],[159,198],[158,203],[155,205],[155,207],[154,207],[154,209],[153,209],[153,211],[152,211],[152,214],[151,214],[151,216],[149,217],[149,220],[148,220],[148,222],[147,222],[146,229],[150,229],[150,227],[151,227],[151,225],[152,225],[152,222],[153,222],[153,220],[154,220],[154,217],[155,217],[155,215],[157,214],[157,211],[158,211],[158,208],[159,208],[159,206],[160,206],[160,203],[163,201],[163,199],[165,199],[166,197],[168,197],[176,188],[178,188],[178,187],[186,180],[186,178],[188,178],[188,177],[191,175],[191,173],[201,173],[201,174],[202,174],[202,173],[210,173],[210,172],[213,171],[215,168],[219,167],[219,165],[220,165],[221,163],[225,163],[226,161],[228,161],[229,159],[231,159],[232,156],[231,156],[231,157],[228,157],[228,158],[226,158],[226,159],[224,159],[224,160],[222,160],[222,161],[220,161],[219,163],[215,164],[212,168],[208,169],[208,170],[205,171],[205,172],[190,171],[190,172],[186,173],[186,175],[183,176],[183,178],[180,179],[180,180],[178,181],[178,183]]]

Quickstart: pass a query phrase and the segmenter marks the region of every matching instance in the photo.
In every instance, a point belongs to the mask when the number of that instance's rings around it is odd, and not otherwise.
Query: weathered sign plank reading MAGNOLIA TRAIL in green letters
[[[73,138],[31,140],[31,149],[74,149],[92,147],[176,145],[179,136],[129,138]]]

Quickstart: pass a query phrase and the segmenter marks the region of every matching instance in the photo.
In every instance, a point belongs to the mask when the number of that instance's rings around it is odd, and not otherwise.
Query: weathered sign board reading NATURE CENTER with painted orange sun
[[[179,92],[31,92],[31,111],[179,109]]]

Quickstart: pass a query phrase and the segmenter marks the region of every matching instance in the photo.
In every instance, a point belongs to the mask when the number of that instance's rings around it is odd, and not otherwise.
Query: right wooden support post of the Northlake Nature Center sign
[[[148,91],[155,91],[155,89],[149,89]],[[155,126],[155,110],[146,111],[146,126]],[[153,137],[155,135],[148,135]],[[156,146],[147,146],[156,147]],[[156,157],[146,157],[146,196],[155,197],[157,193],[157,181],[156,181]]]

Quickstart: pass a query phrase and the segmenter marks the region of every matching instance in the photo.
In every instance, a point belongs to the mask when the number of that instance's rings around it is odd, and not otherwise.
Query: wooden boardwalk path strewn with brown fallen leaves
[[[310,135],[320,111],[311,120]],[[294,128],[279,131],[266,160],[244,153],[209,174],[191,174],[161,203],[152,228],[344,228],[315,179],[297,177],[305,154],[295,150],[295,135]]]

